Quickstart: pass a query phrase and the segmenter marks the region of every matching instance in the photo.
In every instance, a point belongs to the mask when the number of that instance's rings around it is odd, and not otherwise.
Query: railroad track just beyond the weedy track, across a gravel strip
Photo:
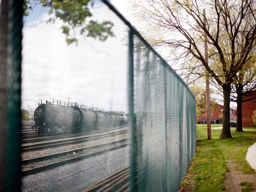
[[[105,137],[113,137],[116,135],[124,134],[124,133],[127,133],[127,131],[128,130],[126,129],[126,130],[122,130],[119,132],[105,133],[105,134],[100,134],[100,135],[96,135],[96,136],[87,136],[87,137],[83,137],[83,138],[59,140],[59,141],[39,143],[39,144],[33,144],[33,145],[23,145],[23,146],[21,146],[21,152],[35,151],[35,150],[39,150],[39,149],[60,147],[60,146],[65,146],[65,145],[70,145],[70,144],[77,144],[77,143],[82,143],[82,142],[87,142],[87,141],[92,141],[92,140],[98,140],[98,139],[105,138]]]

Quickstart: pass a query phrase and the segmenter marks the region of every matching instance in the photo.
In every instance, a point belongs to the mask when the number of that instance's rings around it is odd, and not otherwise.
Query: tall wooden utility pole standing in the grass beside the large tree
[[[206,19],[205,19],[205,9],[204,9],[204,27],[206,28]],[[204,57],[205,62],[208,65],[208,45],[207,45],[207,36],[204,32]],[[211,109],[210,109],[210,85],[209,85],[209,76],[206,75],[206,115],[207,115],[207,138],[212,139],[211,131]]]

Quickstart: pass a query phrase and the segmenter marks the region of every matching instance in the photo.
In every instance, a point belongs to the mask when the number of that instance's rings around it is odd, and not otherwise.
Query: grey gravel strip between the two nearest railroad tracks
[[[81,191],[129,164],[129,148],[120,148],[76,163],[22,178],[23,192]]]

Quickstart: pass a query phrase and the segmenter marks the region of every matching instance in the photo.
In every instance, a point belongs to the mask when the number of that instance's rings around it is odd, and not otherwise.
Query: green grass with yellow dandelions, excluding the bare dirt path
[[[256,128],[243,128],[244,132],[231,129],[233,138],[220,140],[221,129],[213,128],[222,125],[212,124],[212,140],[208,140],[207,125],[196,126],[197,153],[182,185],[194,185],[194,191],[223,191],[228,159],[235,159],[244,173],[255,174],[245,158],[248,148],[256,142]]]

